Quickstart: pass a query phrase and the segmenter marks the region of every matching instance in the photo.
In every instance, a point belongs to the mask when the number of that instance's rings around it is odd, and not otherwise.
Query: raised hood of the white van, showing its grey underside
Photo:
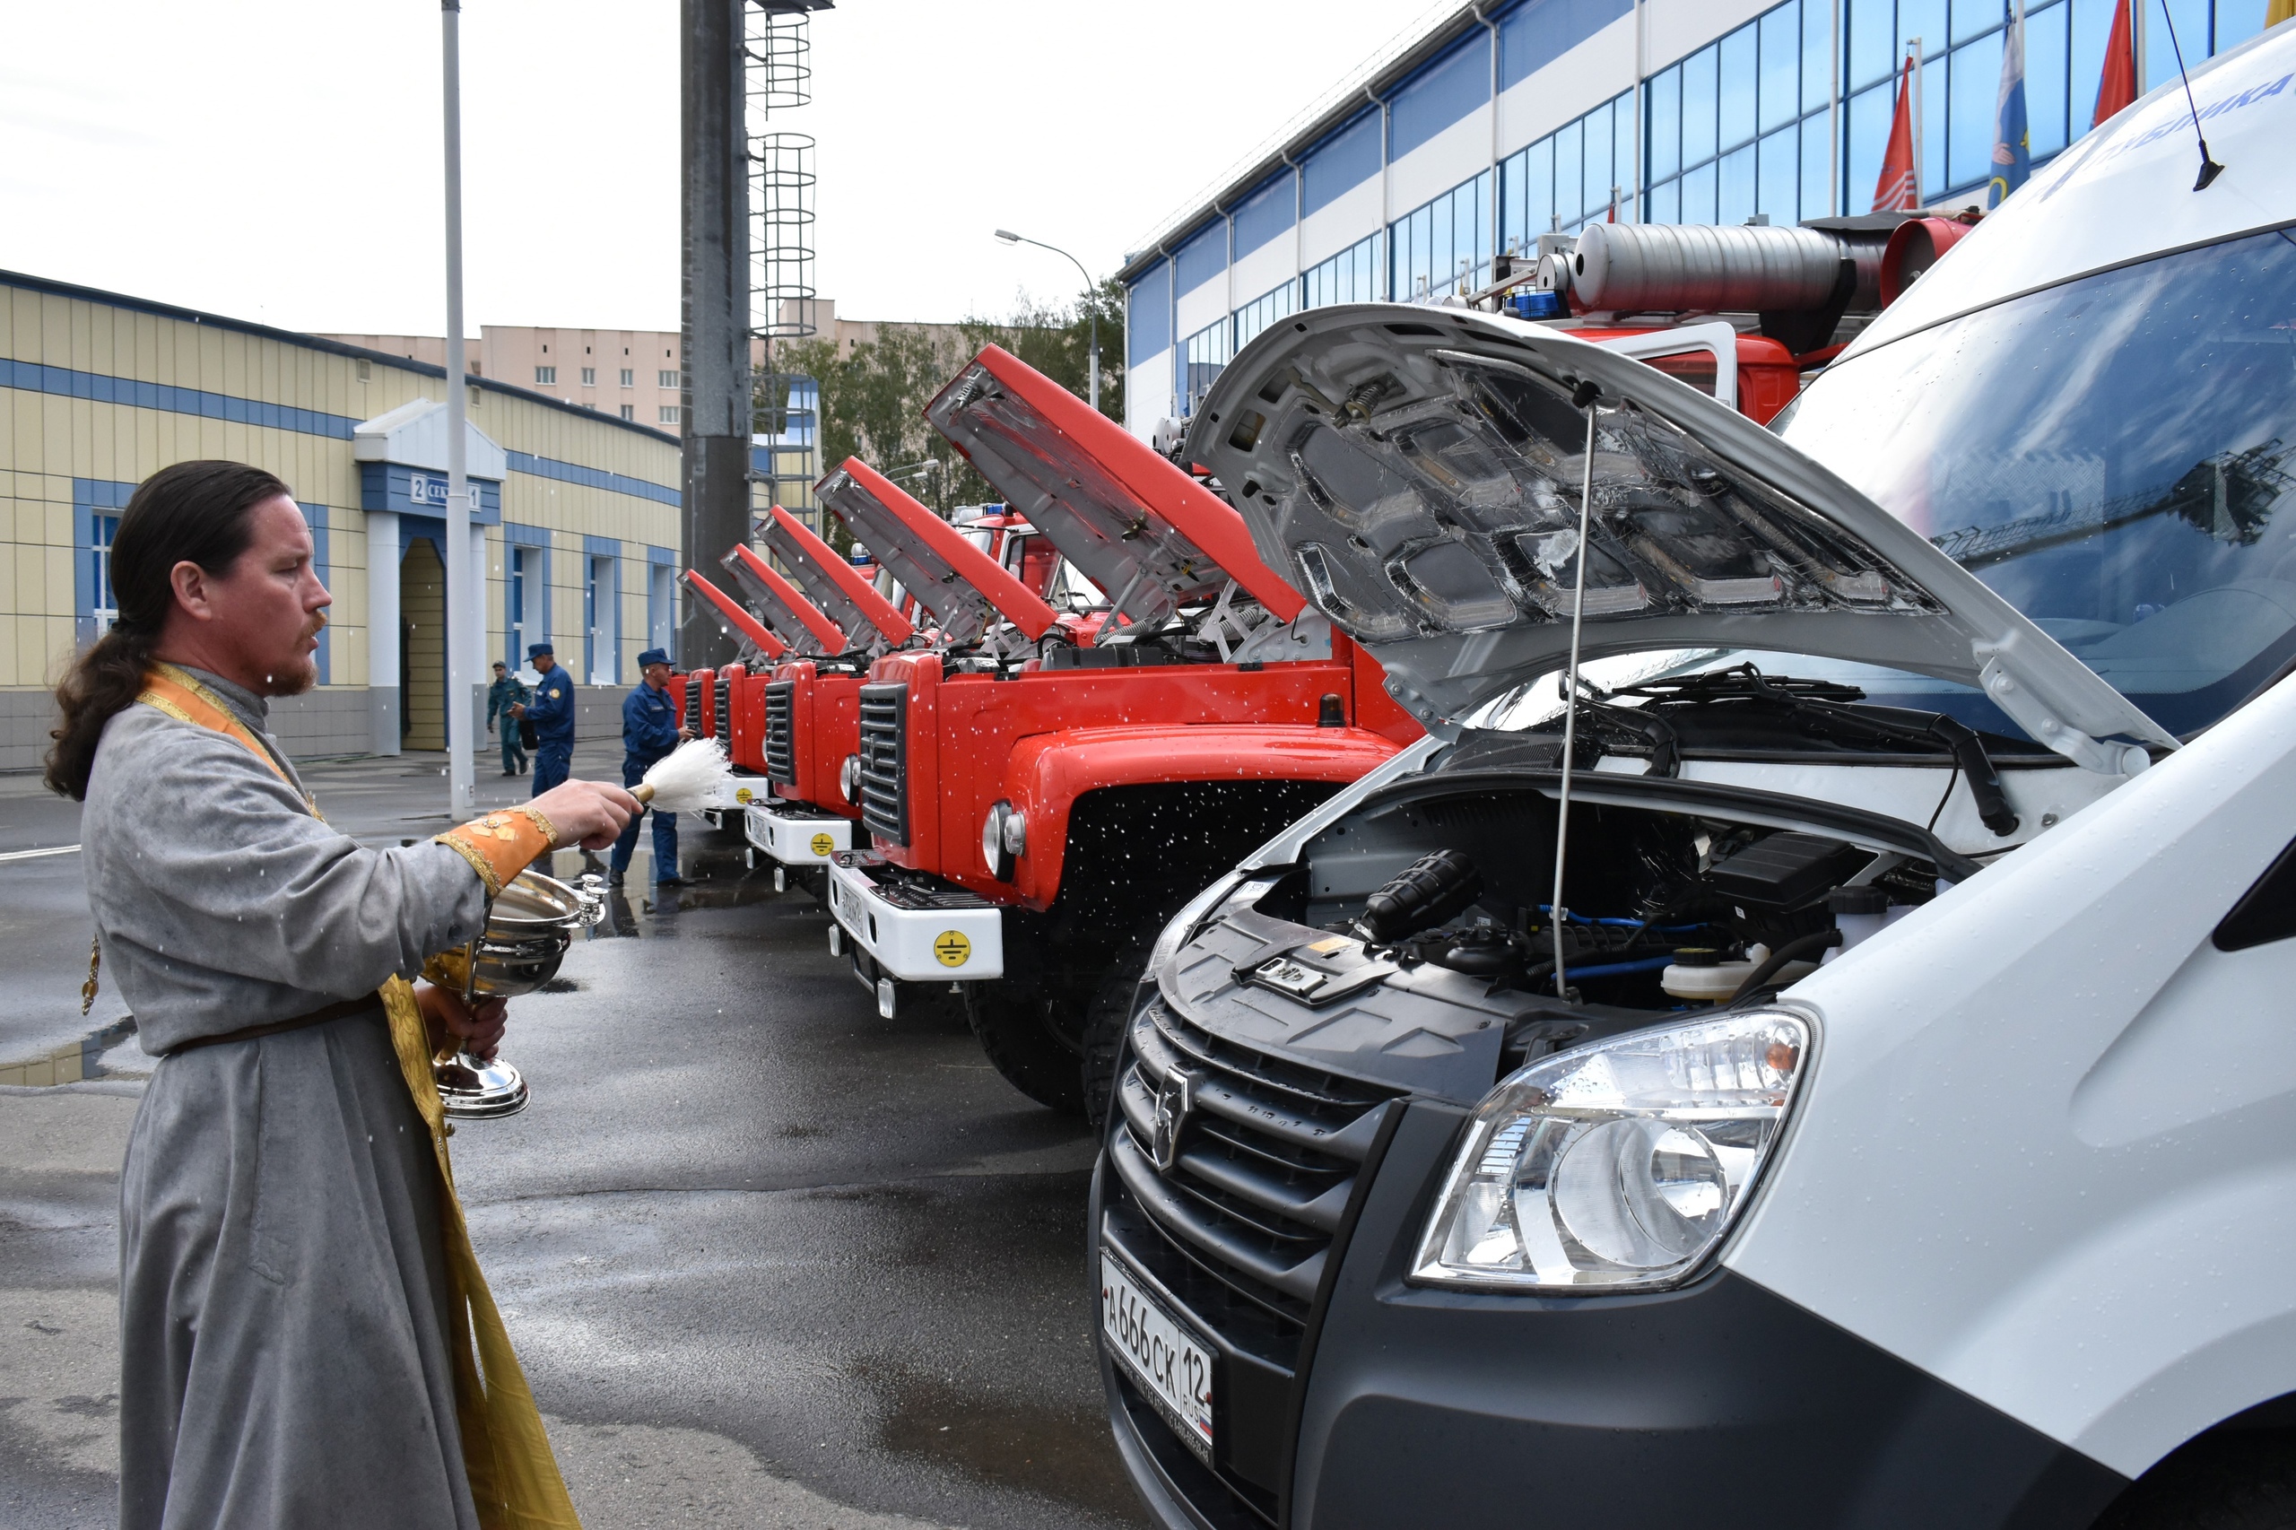
[[[2110,774],[2174,747],[2128,698],[1816,462],[1626,356],[1495,315],[1352,303],[1270,326],[1189,430],[1272,565],[1430,731],[1570,650],[1582,384],[1600,388],[1582,655],[1768,648],[1984,691]]]

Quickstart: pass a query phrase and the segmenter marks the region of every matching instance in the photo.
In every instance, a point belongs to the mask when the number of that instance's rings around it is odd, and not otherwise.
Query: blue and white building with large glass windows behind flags
[[[2119,0],[2025,5],[2039,165],[2089,131]],[[1919,57],[1922,200],[1981,202],[2011,0],[1463,5],[1334,87],[1125,260],[1125,423],[1187,416],[1302,308],[1440,301],[1589,221],[1798,223],[1867,211]],[[2142,0],[2140,90],[2264,28],[2266,0]]]

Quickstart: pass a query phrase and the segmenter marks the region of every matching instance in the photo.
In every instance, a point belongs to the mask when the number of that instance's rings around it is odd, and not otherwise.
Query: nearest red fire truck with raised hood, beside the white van
[[[1017,358],[985,349],[928,418],[1109,616],[1019,664],[872,666],[854,776],[875,845],[836,857],[833,940],[886,1013],[902,983],[955,981],[990,1061],[1084,1110],[1171,910],[1419,726],[1226,503]]]

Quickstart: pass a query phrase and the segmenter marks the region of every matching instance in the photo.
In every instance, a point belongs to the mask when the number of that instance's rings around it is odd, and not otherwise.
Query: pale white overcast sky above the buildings
[[[840,0],[813,21],[817,289],[850,317],[1079,287],[1426,0]],[[439,9],[0,0],[0,269],[287,329],[443,333]],[[466,0],[480,324],[677,329],[675,0]]]

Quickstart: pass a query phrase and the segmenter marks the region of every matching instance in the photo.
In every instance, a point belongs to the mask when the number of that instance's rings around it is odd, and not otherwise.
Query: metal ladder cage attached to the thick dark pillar
[[[820,515],[810,503],[815,471],[815,434],[810,411],[799,443],[790,443],[797,411],[783,404],[792,377],[783,372],[776,345],[808,340],[820,333],[817,292],[813,285],[813,152],[810,133],[776,131],[776,113],[813,101],[813,32],[808,5],[792,0],[753,0],[744,5],[744,149],[748,156],[751,223],[751,338],[765,340],[765,365],[758,370],[762,432],[771,436],[767,464],[751,478],[767,485],[774,503],[790,508],[815,531]],[[783,492],[783,487],[792,492]]]

